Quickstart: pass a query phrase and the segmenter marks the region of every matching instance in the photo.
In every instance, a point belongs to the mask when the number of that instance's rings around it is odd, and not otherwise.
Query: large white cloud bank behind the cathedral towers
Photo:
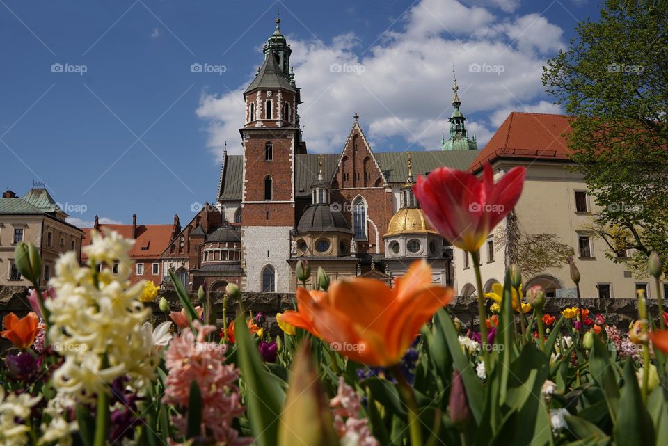
[[[481,148],[501,113],[556,111],[541,100],[541,70],[550,51],[563,45],[562,30],[543,17],[498,18],[480,6],[422,0],[403,26],[369,49],[353,33],[328,43],[289,39],[310,152],[341,150],[356,112],[376,151],[437,149],[452,112],[452,65],[461,111]],[[249,67],[248,81],[232,92],[202,92],[196,113],[207,122],[207,145],[218,158],[225,141],[228,152],[241,152],[242,93],[254,75]],[[471,118],[474,113],[483,118]],[[392,147],[397,137],[404,143]]]

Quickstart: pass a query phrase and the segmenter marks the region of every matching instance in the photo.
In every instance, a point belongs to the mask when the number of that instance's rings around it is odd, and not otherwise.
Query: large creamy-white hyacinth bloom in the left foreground
[[[45,303],[51,311],[50,340],[65,358],[54,372],[54,385],[79,398],[107,392],[107,385],[124,375],[141,386],[152,379],[159,360],[152,354],[152,333],[143,327],[150,315],[138,299],[144,284],[129,285],[128,250],[134,241],[116,232],[91,235],[93,243],[84,248],[88,266],[79,266],[72,252],[61,255],[49,281],[56,298]]]

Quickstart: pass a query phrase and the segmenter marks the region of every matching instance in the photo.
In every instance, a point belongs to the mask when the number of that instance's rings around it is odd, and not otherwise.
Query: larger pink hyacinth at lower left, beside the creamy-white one
[[[215,326],[202,325],[193,321],[191,330],[183,330],[175,336],[165,352],[165,364],[169,370],[165,382],[163,401],[174,404],[186,412],[190,397],[190,387],[196,381],[202,394],[202,436],[212,436],[217,442],[230,446],[246,446],[252,438],[240,437],[232,428],[234,418],[244,413],[239,389],[234,382],[239,377],[239,369],[225,365],[225,345],[206,342]],[[172,419],[177,433],[183,436],[187,418],[176,415]]]

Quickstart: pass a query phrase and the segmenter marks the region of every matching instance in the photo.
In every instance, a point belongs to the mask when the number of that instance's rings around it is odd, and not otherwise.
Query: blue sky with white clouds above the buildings
[[[479,148],[511,111],[560,113],[541,84],[595,0],[0,0],[0,178],[80,227],[187,223],[241,153],[241,93],[280,28],[309,152],[359,113],[376,152],[436,150],[452,111]],[[198,69],[202,67],[202,69]]]

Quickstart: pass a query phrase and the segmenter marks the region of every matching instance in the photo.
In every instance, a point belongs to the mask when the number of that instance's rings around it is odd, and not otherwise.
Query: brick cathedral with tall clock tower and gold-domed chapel
[[[162,271],[197,289],[293,292],[294,266],[306,259],[331,276],[390,283],[416,259],[435,283],[452,285],[452,248],[422,214],[413,196],[417,175],[440,166],[466,170],[479,154],[468,137],[454,81],[448,138],[440,150],[376,152],[356,114],[340,153],[309,153],[300,127],[300,88],[292,49],[276,30],[264,62],[244,91],[243,154],[223,156],[217,202],[205,205],[174,234]],[[315,148],[317,150],[317,148]]]

